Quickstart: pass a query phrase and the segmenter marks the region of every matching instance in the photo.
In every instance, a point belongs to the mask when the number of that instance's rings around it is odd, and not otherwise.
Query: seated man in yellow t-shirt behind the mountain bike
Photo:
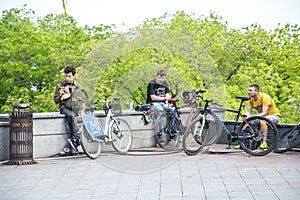
[[[253,108],[257,110],[258,116],[266,117],[270,119],[274,124],[277,124],[280,119],[280,114],[273,99],[265,93],[259,92],[259,86],[252,84],[248,88],[248,95],[250,97],[249,105],[245,115],[250,117],[252,115]],[[267,130],[263,131],[263,142],[260,148],[267,148]]]

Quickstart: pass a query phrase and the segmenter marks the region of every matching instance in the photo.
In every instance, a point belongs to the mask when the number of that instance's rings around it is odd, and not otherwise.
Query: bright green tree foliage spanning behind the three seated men
[[[229,30],[214,13],[178,11],[148,19],[128,33],[114,28],[79,27],[68,15],[36,18],[26,6],[4,11],[0,111],[18,102],[38,112],[57,111],[54,89],[66,65],[77,68],[91,99],[120,97],[126,109],[130,101],[145,103],[148,82],[164,68],[173,93],[206,89],[207,98],[237,109],[235,96],[246,96],[247,87],[257,83],[273,97],[281,123],[300,121],[298,25],[270,32],[258,24]]]

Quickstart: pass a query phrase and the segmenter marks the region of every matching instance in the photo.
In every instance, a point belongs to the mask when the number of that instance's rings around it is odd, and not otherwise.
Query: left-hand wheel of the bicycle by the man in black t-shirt
[[[161,114],[153,128],[156,143],[166,151],[175,149],[179,143],[179,130],[177,118],[173,119],[172,114],[169,113]]]

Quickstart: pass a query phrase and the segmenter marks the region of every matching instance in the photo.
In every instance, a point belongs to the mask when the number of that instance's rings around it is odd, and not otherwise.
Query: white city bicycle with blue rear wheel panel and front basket
[[[103,109],[106,114],[105,126],[102,128],[101,123],[94,115],[96,110],[93,104],[105,102]],[[120,100],[97,100],[92,102],[85,111],[79,111],[79,117],[76,117],[77,125],[80,129],[80,141],[85,154],[96,159],[101,154],[101,144],[112,147],[119,153],[125,154],[132,144],[132,132],[129,124],[119,118],[122,114]]]

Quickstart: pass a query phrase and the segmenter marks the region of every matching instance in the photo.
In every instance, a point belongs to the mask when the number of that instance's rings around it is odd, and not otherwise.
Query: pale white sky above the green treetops
[[[228,22],[229,28],[240,29],[258,23],[270,30],[286,23],[300,24],[299,0],[67,0],[67,12],[80,26],[99,24],[134,27],[146,19],[183,10],[196,17],[213,11]],[[27,8],[37,16],[63,13],[62,0],[0,0],[0,11]],[[124,28],[124,27],[123,27]]]

